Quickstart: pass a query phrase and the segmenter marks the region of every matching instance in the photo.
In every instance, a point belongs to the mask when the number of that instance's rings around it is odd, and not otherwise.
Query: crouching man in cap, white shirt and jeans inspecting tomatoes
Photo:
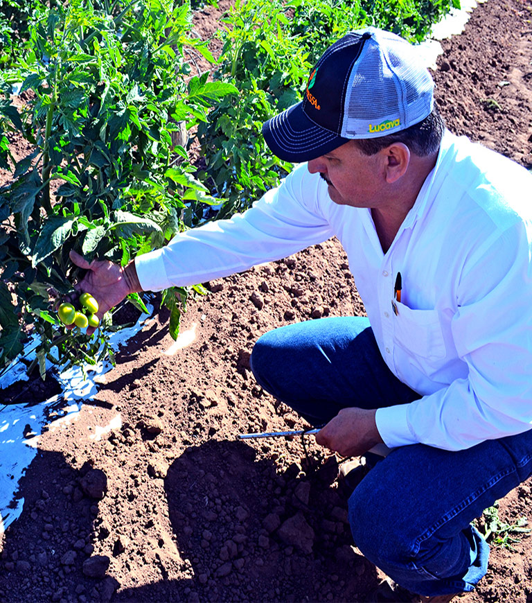
[[[79,288],[103,313],[336,235],[368,318],[283,326],[251,367],[327,422],[318,444],[393,449],[349,499],[355,544],[423,600],[450,600],[486,573],[470,521],[532,473],[532,177],[445,130],[413,47],[375,28],[330,46],[263,132],[301,162],[278,189],[125,270],[73,255]]]

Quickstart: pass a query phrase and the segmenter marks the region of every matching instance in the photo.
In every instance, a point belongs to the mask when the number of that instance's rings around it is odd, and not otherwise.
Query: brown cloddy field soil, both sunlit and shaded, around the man
[[[223,6],[199,13],[203,33]],[[434,74],[452,130],[528,166],[531,8],[481,5]],[[188,347],[169,353],[157,311],[78,419],[39,438],[24,511],[0,543],[1,601],[398,600],[351,546],[337,457],[312,437],[308,457],[299,438],[237,439],[304,426],[254,383],[249,353],[287,322],[364,312],[342,248],[328,241],[208,288],[184,315]],[[94,438],[117,414],[121,428]],[[531,502],[529,480],[500,502],[502,518]],[[493,549],[463,603],[532,601],[532,539],[514,546]]]

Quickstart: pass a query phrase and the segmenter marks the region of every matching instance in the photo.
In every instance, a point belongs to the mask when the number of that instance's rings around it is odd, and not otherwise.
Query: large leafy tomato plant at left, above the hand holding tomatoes
[[[215,202],[172,137],[236,89],[190,74],[185,46],[211,59],[188,33],[190,6],[105,4],[46,10],[17,69],[2,76],[4,91],[19,80],[34,100],[19,115],[5,94],[0,157],[8,161],[9,128],[34,150],[0,189],[0,366],[20,353],[30,325],[41,340],[42,374],[45,358],[95,362],[99,350],[107,353],[109,319],[93,338],[57,331],[53,297],[66,295],[76,277],[69,250],[125,264],[187,227],[188,200]],[[144,308],[138,295],[132,301]]]

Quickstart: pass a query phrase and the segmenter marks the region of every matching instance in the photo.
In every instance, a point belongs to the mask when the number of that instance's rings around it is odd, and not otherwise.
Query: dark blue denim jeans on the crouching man
[[[380,408],[420,396],[394,376],[365,317],[290,324],[251,354],[258,383],[310,423],[344,407]],[[357,547],[420,595],[472,591],[489,547],[470,522],[532,473],[532,430],[463,451],[413,444],[378,462],[349,498]]]

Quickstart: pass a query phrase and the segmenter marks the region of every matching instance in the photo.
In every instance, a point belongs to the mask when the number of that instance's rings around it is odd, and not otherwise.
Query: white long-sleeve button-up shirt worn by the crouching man
[[[445,132],[386,253],[371,211],[332,202],[301,164],[245,213],[179,234],[136,270],[145,290],[185,286],[333,235],[382,357],[423,396],[377,411],[387,446],[459,450],[532,428],[532,175],[465,137]]]

